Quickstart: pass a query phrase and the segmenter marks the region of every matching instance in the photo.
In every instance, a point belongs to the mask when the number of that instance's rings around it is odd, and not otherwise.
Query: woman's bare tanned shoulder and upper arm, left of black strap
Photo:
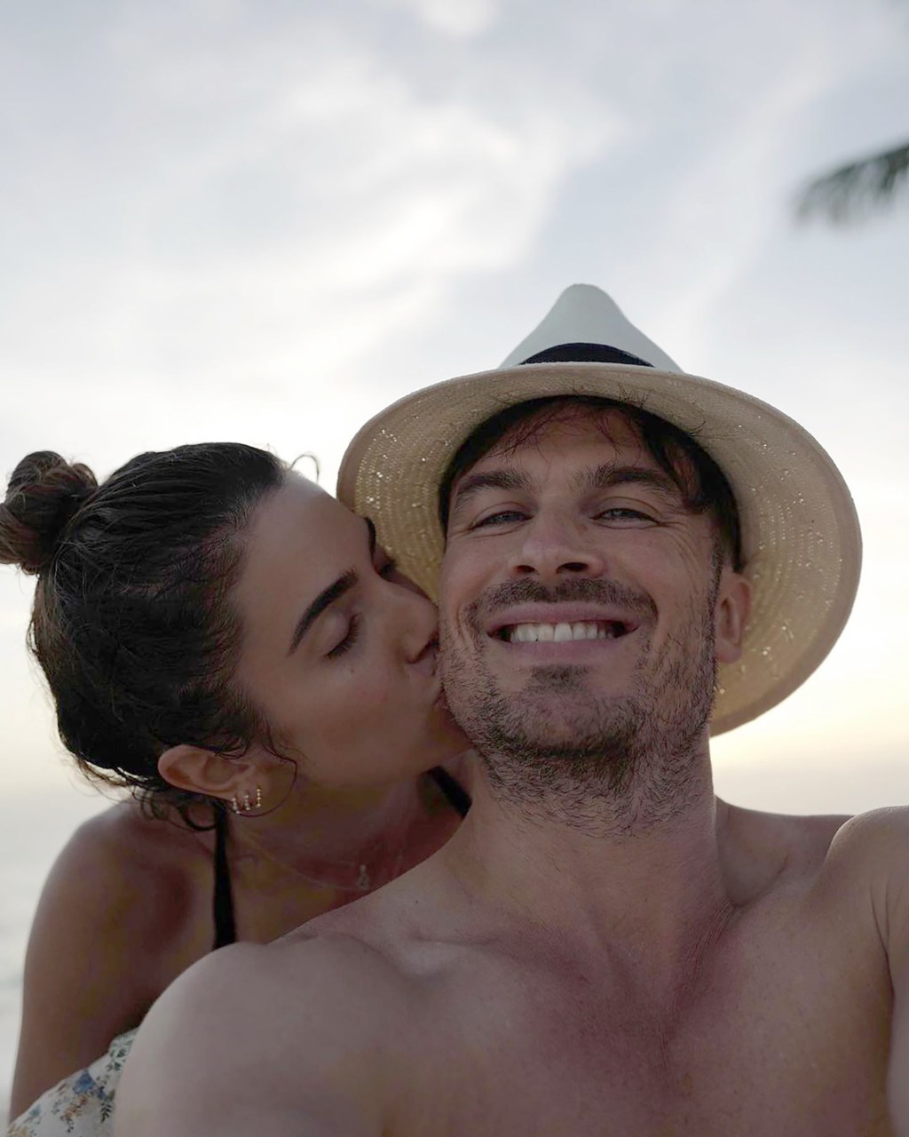
[[[64,847],[26,951],[14,1109],[136,1026],[210,947],[210,857],[208,882],[202,868],[197,882],[192,864],[205,850],[194,853],[187,839],[124,802],[80,825]]]

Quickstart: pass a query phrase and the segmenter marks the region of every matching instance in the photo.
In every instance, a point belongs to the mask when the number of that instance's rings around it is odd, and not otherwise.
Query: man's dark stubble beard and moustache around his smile
[[[516,692],[497,682],[482,650],[441,631],[447,698],[476,747],[497,799],[602,833],[639,831],[682,811],[697,794],[697,755],[716,695],[714,607],[708,596],[657,652],[641,649],[627,694],[597,695],[583,666],[540,666]],[[558,590],[506,586],[494,606],[526,599],[618,603],[648,615],[652,601],[609,581]],[[529,591],[528,591],[529,589]],[[482,599],[467,613],[474,645]]]

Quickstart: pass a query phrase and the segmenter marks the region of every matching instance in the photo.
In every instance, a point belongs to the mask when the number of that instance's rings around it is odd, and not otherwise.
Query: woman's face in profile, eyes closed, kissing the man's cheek
[[[299,474],[253,512],[233,599],[236,681],[308,780],[383,785],[467,747],[441,697],[435,606],[369,522]]]

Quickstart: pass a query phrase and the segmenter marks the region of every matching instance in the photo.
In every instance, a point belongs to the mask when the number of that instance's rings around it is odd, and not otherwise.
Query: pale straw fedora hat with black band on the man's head
[[[439,485],[458,447],[504,407],[602,396],[692,434],[739,505],[752,609],[737,663],[720,665],[711,719],[731,730],[790,695],[845,624],[861,565],[856,508],[811,435],[750,395],[685,374],[597,288],[574,284],[497,371],[424,388],[370,420],[348,447],[337,496],[432,597],[444,534]]]

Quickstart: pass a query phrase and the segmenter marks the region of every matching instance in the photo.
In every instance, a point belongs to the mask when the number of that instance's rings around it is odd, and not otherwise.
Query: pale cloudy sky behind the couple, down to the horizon
[[[495,366],[567,284],[799,420],[865,533],[852,619],[716,740],[744,805],[909,799],[909,199],[798,188],[909,134],[900,0],[0,0],[0,472],[239,439],[318,456]],[[0,797],[69,792],[0,570]],[[72,792],[76,792],[72,790]],[[23,797],[25,800],[25,797]]]

